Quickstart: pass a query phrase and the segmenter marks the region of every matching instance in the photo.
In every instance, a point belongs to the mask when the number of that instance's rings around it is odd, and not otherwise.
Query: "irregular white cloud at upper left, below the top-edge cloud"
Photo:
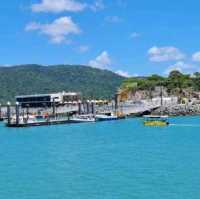
[[[71,17],[61,17],[49,24],[40,24],[32,22],[25,28],[26,31],[39,31],[41,34],[47,35],[52,43],[67,43],[68,35],[79,34],[81,30]]]

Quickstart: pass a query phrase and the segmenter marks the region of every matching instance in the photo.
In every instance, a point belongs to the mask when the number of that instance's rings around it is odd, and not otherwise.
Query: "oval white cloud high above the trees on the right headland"
[[[152,62],[178,61],[185,58],[185,55],[173,46],[154,46],[148,50],[148,55]]]

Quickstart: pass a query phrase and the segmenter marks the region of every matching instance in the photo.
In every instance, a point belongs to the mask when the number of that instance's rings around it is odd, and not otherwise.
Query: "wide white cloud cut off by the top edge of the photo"
[[[42,0],[31,6],[33,12],[79,12],[86,8],[86,4],[76,0]]]

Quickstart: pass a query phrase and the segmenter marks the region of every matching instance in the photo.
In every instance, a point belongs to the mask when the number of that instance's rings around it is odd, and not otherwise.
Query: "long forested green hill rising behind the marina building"
[[[112,98],[125,78],[108,70],[87,66],[21,65],[0,67],[0,102],[16,95],[81,92],[85,98]]]

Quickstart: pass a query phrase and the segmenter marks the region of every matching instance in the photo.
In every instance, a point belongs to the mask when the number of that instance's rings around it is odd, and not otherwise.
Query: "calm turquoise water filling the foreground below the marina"
[[[0,125],[2,199],[199,199],[200,117]]]

